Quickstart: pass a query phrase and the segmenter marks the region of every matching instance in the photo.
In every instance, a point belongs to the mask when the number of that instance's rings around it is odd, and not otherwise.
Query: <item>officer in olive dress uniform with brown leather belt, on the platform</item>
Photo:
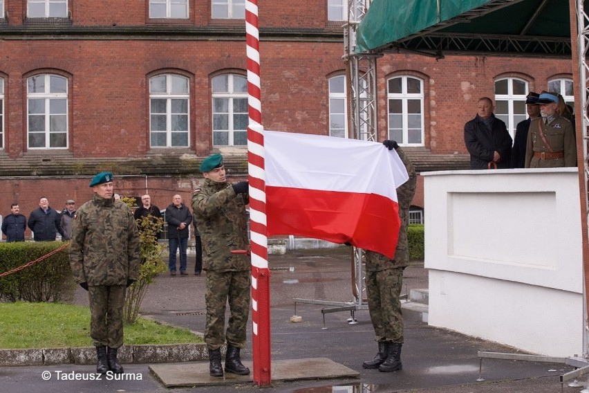
[[[577,145],[574,129],[567,118],[560,116],[558,93],[543,91],[538,101],[540,118],[532,120],[527,133],[525,167],[555,168],[577,166]]]

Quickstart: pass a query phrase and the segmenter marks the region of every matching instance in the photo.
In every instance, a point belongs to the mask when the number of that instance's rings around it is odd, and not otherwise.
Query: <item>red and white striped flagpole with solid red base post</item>
[[[254,382],[270,385],[270,270],[266,236],[264,137],[260,89],[258,1],[245,1],[247,51],[247,171],[250,181],[250,245],[252,251],[252,341]]]

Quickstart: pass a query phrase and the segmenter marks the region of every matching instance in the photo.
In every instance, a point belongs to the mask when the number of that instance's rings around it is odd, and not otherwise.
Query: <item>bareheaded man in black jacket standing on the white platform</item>
[[[509,168],[512,137],[505,122],[493,114],[495,107],[488,97],[478,100],[478,113],[465,124],[465,145],[470,153],[470,169]]]

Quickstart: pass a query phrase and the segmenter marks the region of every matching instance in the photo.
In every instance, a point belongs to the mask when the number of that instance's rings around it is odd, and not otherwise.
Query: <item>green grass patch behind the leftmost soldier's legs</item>
[[[203,342],[188,329],[139,318],[125,345]],[[90,309],[62,303],[0,303],[0,349],[91,347]]]

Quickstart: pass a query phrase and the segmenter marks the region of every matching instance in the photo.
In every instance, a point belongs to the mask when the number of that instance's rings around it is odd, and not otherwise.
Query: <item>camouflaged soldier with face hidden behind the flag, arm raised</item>
[[[389,150],[396,149],[409,174],[409,180],[397,188],[401,228],[394,259],[366,251],[366,296],[375,340],[378,343],[378,353],[373,360],[364,362],[362,367],[393,372],[402,369],[403,316],[399,295],[403,283],[403,270],[409,265],[407,227],[417,174],[409,158],[394,140],[385,140],[383,144]]]

